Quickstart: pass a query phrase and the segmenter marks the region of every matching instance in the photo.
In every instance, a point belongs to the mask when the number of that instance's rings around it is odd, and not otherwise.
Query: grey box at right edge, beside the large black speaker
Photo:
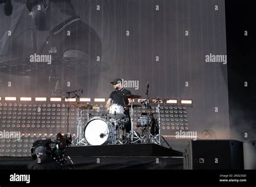
[[[244,141],[244,166],[245,169],[256,170],[256,140]]]

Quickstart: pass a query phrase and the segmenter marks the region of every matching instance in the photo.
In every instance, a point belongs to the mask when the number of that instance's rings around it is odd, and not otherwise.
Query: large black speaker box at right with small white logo
[[[244,169],[242,142],[191,140],[183,153],[184,169]]]

